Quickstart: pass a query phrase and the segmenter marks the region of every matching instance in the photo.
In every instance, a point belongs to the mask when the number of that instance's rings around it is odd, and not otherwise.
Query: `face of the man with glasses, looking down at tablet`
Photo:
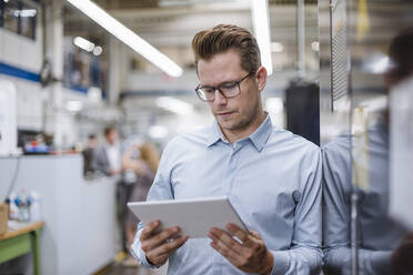
[[[211,60],[198,61],[198,77],[202,86],[238,81],[248,73],[241,68],[239,52],[232,49],[214,55]],[[260,92],[263,85],[259,85],[255,75],[253,72],[240,83],[240,94],[234,98],[225,99],[215,90],[215,99],[209,102],[209,105],[223,131],[248,130],[256,119],[262,108]]]

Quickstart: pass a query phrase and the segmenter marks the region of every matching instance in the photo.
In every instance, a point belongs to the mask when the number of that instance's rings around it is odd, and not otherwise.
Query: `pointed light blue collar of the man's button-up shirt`
[[[223,142],[228,142],[223,133],[221,132],[220,126],[218,125],[216,120],[214,120],[211,134],[206,141],[206,146],[211,146],[215,144],[219,140]],[[266,141],[270,138],[272,132],[272,122],[270,115],[266,114],[265,120],[261,123],[261,125],[253,132],[250,136],[245,138],[244,140],[249,139],[252,144],[254,144],[255,149],[261,152],[264,147]]]

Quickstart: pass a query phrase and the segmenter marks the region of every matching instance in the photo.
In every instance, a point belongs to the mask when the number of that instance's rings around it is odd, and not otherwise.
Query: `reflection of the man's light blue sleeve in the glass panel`
[[[350,140],[341,136],[323,149],[323,238],[325,274],[351,275]],[[390,274],[391,251],[359,248],[360,274]]]

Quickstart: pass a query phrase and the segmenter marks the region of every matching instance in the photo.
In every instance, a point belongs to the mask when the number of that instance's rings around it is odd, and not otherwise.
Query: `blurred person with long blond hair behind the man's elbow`
[[[134,157],[135,153],[139,153],[138,157]],[[127,247],[131,247],[134,235],[137,233],[137,226],[139,224],[139,218],[127,207],[127,202],[143,202],[147,201],[148,192],[152,186],[158,165],[159,165],[160,154],[157,147],[150,143],[144,142],[142,144],[134,143],[130,149],[128,149],[122,156],[122,169],[131,170],[134,172],[135,182],[130,184],[128,189],[129,192],[125,194],[124,204],[124,235]],[[138,262],[129,256],[124,265],[135,265]]]

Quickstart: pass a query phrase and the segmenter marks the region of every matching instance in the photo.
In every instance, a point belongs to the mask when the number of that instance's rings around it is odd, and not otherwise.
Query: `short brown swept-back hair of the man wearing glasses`
[[[241,68],[255,72],[261,65],[260,48],[250,31],[234,24],[219,24],[200,31],[192,40],[195,64],[201,59],[210,60],[218,53],[230,49],[240,52]]]

